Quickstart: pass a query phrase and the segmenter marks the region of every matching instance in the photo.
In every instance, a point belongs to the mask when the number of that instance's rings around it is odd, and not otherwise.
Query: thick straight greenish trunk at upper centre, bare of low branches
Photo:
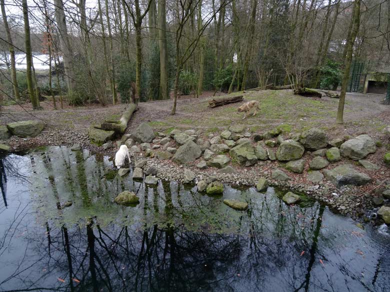
[[[166,45],[166,0],[158,1],[158,45],[160,50],[159,98],[169,98],[168,92],[168,50]]]

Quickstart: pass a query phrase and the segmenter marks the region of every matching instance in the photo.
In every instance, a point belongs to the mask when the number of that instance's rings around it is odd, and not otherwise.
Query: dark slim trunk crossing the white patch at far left
[[[31,52],[31,39],[30,39],[30,25],[28,21],[28,7],[27,0],[21,1],[22,9],[23,9],[23,20],[24,20],[24,44],[25,44],[25,59],[26,59],[26,77],[27,77],[27,88],[28,95],[31,100],[31,105],[33,109],[39,109],[39,104],[36,100],[36,96],[34,94],[33,83],[32,83],[32,52]]]

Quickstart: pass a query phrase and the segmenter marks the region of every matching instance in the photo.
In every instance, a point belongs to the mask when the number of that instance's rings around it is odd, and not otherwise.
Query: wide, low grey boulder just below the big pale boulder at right
[[[324,170],[326,179],[332,182],[336,187],[344,185],[361,186],[371,181],[371,178],[355,170],[351,165],[339,165],[331,170]]]

